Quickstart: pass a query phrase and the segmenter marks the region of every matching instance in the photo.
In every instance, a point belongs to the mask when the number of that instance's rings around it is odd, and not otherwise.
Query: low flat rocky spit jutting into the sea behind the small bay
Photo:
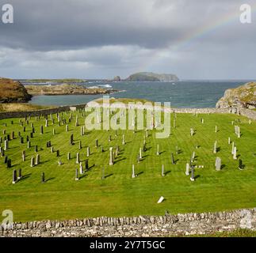
[[[25,85],[31,95],[97,95],[117,92],[113,89],[86,88],[82,85]]]

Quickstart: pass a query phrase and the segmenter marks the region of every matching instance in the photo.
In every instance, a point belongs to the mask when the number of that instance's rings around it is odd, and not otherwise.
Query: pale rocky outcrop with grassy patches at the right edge
[[[227,89],[216,108],[256,108],[256,82],[248,82],[236,89]]]

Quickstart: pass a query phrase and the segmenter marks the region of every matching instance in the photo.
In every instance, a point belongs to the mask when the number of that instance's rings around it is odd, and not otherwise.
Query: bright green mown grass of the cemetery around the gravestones
[[[63,113],[68,119],[69,114]],[[52,121],[44,127],[44,134],[40,134],[40,125],[44,119],[35,121],[32,118],[26,125],[26,132],[19,125],[19,119],[0,120],[0,136],[4,137],[11,130],[15,131],[16,138],[10,141],[10,149],[6,154],[12,160],[13,168],[7,169],[0,158],[0,213],[2,210],[13,210],[14,221],[40,221],[46,219],[75,219],[83,217],[121,217],[135,215],[162,215],[165,210],[170,213],[210,212],[220,210],[233,210],[256,206],[256,123],[248,123],[248,119],[237,115],[177,115],[177,128],[172,129],[170,138],[155,139],[155,130],[149,131],[147,138],[147,152],[143,153],[143,160],[137,164],[136,157],[139,147],[143,145],[144,131],[118,130],[86,130],[86,135],[80,136],[80,126],[75,126],[75,114],[79,115],[82,125],[82,112],[73,112],[70,131],[65,126],[58,126],[55,119],[56,134],[52,135]],[[201,124],[201,117],[204,124]],[[171,121],[174,116],[172,115]],[[231,121],[240,119],[242,138],[234,134]],[[13,120],[13,125],[10,121]],[[24,119],[22,119],[24,121]],[[32,148],[27,149],[26,143],[20,144],[17,132],[25,138],[31,132],[30,123],[34,123],[36,134],[31,139]],[[3,123],[7,123],[4,126]],[[215,126],[219,132],[215,133]],[[172,123],[171,123],[172,126]],[[190,137],[189,130],[193,127],[197,134]],[[74,134],[75,145],[69,144],[71,134]],[[121,145],[122,134],[125,134],[126,145]],[[109,135],[113,141],[109,143]],[[239,158],[243,159],[245,169],[238,169],[238,161],[231,157],[231,145],[227,138],[235,142]],[[106,150],[101,153],[101,147],[95,148],[95,139]],[[57,164],[58,158],[46,148],[46,142],[51,140],[54,149],[60,150],[60,159],[63,165]],[[89,172],[79,181],[75,181],[75,153],[78,152],[78,141],[82,140],[80,150],[81,160],[86,160],[86,146],[90,145]],[[219,153],[213,154],[215,141],[220,147]],[[160,156],[156,156],[156,145],[160,145]],[[195,145],[201,147],[195,149]],[[34,145],[39,146],[41,164],[30,168],[30,158],[35,157]],[[116,163],[109,166],[109,147],[120,145],[120,155]],[[175,154],[178,145],[181,153]],[[3,147],[3,144],[2,144]],[[26,160],[22,162],[21,151],[26,150]],[[71,152],[71,160],[67,160],[67,152]],[[196,164],[204,168],[195,170],[197,179],[191,182],[185,176],[185,164],[189,161],[193,151],[196,151]],[[174,153],[177,164],[170,161],[170,153]],[[216,172],[214,163],[216,156],[221,157],[225,165],[222,171]],[[136,179],[131,178],[132,164],[136,166]],[[161,166],[165,165],[168,172],[161,176]],[[105,175],[101,180],[101,168],[105,167]],[[24,179],[12,184],[13,169],[22,168]],[[45,172],[46,183],[40,183],[41,172]],[[166,200],[157,204],[159,197]]]

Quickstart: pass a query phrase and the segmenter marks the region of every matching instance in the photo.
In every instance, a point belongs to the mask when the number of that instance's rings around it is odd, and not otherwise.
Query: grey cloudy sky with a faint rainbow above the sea
[[[255,79],[256,0],[0,0],[0,77]]]

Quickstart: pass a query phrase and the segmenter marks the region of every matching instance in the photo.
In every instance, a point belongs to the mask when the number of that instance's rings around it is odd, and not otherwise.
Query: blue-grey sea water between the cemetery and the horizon
[[[247,81],[175,81],[175,82],[90,82],[86,87],[104,86],[122,92],[111,94],[116,98],[142,98],[155,102],[170,102],[174,108],[215,108],[226,89]],[[85,104],[102,95],[33,96],[29,103],[40,105]]]

